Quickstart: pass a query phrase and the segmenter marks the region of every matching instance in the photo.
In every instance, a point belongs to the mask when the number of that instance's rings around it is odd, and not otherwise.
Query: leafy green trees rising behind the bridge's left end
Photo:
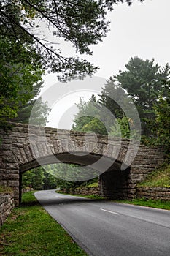
[[[37,98],[42,86],[42,64],[30,46],[0,37],[0,127],[8,129],[7,121],[28,123],[33,106],[33,124],[44,124],[49,109]]]

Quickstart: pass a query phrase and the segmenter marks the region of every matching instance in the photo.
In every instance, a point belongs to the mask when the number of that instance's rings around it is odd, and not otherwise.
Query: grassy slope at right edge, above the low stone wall
[[[170,187],[170,165],[152,172],[139,187]]]

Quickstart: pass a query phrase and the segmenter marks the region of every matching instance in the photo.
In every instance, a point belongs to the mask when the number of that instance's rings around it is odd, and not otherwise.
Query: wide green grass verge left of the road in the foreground
[[[39,205],[33,192],[23,195],[0,230],[0,255],[87,255]]]

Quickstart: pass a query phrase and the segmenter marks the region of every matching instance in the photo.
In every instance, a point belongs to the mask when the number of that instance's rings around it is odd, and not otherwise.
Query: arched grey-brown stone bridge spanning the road
[[[104,135],[13,124],[0,137],[0,185],[14,189],[16,205],[22,173],[40,165],[88,166],[98,172],[102,196],[118,199],[135,197],[136,184],[163,162],[161,148]]]

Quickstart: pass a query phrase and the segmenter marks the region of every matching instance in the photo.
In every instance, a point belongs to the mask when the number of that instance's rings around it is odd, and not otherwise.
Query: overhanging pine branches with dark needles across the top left
[[[105,20],[107,10],[112,10],[114,4],[119,2],[123,0],[2,0],[1,35],[21,45],[25,42],[31,44],[41,56],[43,66],[61,74],[58,75],[61,80],[82,77],[85,73],[92,75],[98,67],[78,56],[63,56],[61,48],[54,47],[44,38],[39,29],[40,21],[54,38],[71,42],[80,54],[92,54],[89,46],[101,42],[109,30],[109,23]],[[132,1],[126,2],[131,4]]]

